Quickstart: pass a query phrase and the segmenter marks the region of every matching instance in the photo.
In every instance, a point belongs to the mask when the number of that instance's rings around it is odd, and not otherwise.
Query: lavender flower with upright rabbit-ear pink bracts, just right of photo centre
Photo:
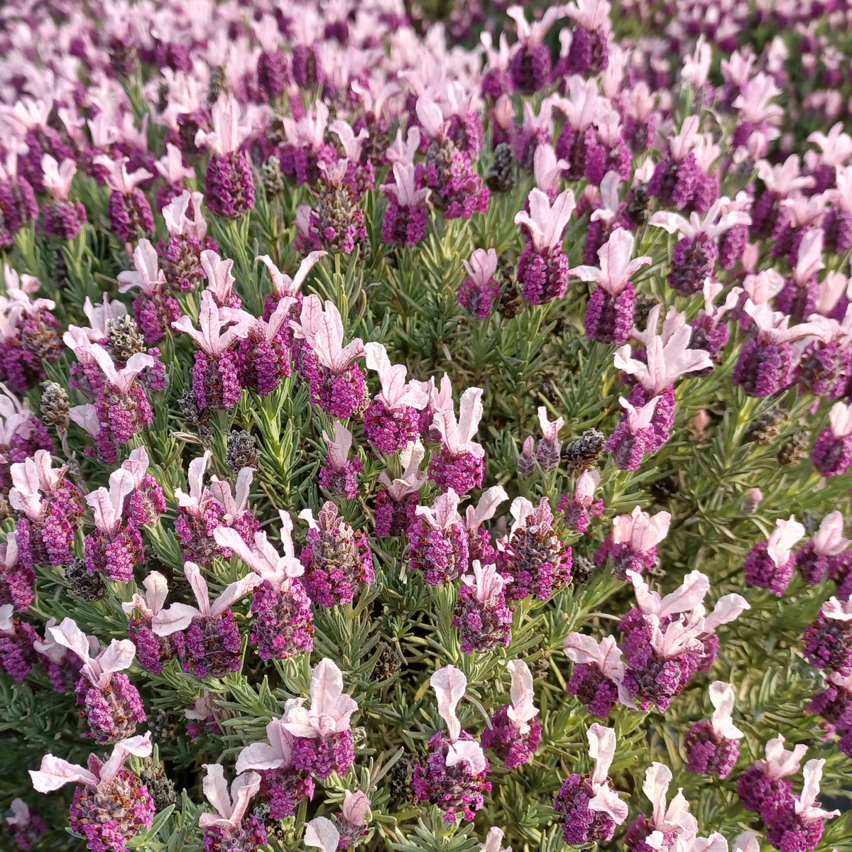
[[[444,390],[443,382],[441,391]],[[482,389],[468,388],[458,401],[458,420],[452,406],[439,408],[431,427],[440,436],[441,446],[429,463],[429,478],[439,488],[466,494],[482,485],[485,449],[473,440],[482,418]]]

